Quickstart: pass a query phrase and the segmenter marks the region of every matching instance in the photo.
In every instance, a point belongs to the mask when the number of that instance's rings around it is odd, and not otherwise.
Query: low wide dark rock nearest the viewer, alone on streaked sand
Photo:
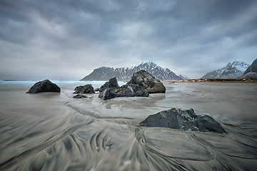
[[[154,115],[149,115],[140,123],[141,126],[165,127],[178,130],[226,133],[217,120],[209,115],[196,115],[193,109],[181,110],[171,108]]]

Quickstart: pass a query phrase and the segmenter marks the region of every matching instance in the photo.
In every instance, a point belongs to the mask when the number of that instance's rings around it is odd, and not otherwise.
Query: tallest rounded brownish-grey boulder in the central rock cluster
[[[146,88],[148,93],[165,93],[166,91],[166,88],[161,81],[144,70],[133,73],[131,81],[129,81],[128,84],[138,84],[139,86]]]

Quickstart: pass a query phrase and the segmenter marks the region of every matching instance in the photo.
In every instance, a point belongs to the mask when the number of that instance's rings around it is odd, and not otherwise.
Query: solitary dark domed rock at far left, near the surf
[[[61,88],[49,80],[39,81],[26,93],[60,92]]]

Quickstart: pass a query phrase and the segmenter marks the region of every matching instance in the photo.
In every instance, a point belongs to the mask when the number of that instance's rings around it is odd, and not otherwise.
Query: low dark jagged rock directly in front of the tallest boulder
[[[148,97],[148,91],[137,84],[126,84],[117,88],[106,88],[100,93],[99,98],[104,100],[116,97]]]

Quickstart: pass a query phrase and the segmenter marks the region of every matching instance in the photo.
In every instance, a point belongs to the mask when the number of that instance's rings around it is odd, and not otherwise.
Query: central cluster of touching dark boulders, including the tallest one
[[[111,78],[99,88],[99,98],[104,100],[116,97],[148,97],[149,93],[165,93],[165,87],[147,71],[133,73],[131,81],[119,87],[116,78]]]

